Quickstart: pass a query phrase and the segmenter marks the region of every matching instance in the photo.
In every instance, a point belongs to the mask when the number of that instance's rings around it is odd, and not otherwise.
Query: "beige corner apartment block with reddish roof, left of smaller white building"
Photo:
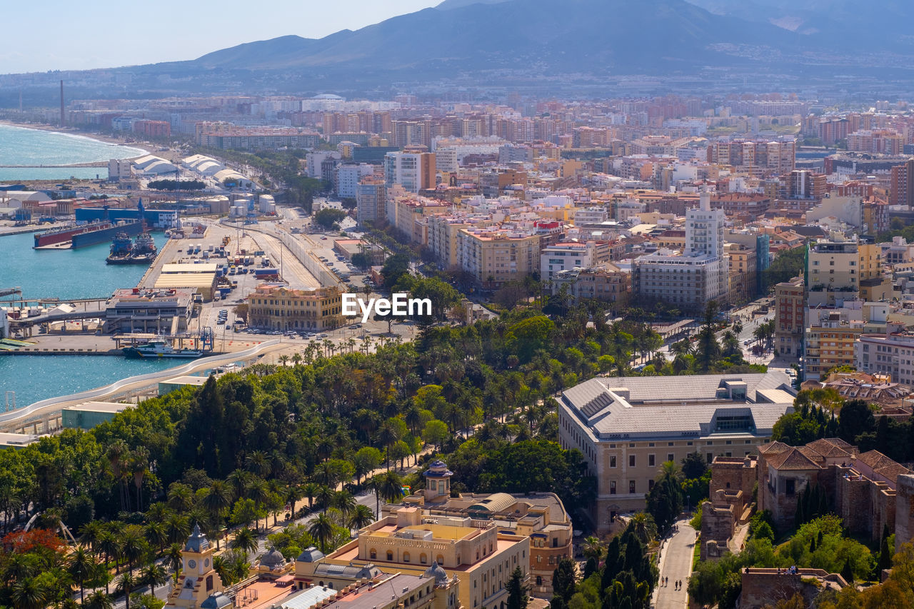
[[[539,272],[540,236],[509,228],[462,229],[457,258],[476,283],[499,288],[505,282]]]

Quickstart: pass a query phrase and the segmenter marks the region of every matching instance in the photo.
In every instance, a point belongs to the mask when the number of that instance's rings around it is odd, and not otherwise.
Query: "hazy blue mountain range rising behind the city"
[[[446,80],[535,89],[577,79],[596,87],[624,75],[754,79],[772,88],[767,79],[802,88],[859,77],[862,91],[883,81],[911,91],[912,16],[910,0],[444,0],[323,38],[284,36],[186,61],[89,70],[110,80],[100,76],[80,93],[382,94],[393,82]],[[129,85],[115,86],[118,72],[130,73]],[[48,83],[58,78],[50,73]],[[0,77],[0,105],[3,84]]]

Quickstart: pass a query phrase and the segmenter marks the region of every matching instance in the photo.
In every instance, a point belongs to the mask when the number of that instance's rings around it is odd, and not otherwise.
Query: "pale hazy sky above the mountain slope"
[[[441,0],[4,0],[0,74],[196,59],[287,34],[324,37]]]

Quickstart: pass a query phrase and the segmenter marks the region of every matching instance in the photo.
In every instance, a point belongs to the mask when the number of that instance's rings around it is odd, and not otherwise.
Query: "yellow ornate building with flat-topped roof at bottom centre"
[[[295,581],[339,587],[382,571],[443,572],[448,581],[458,582],[458,604],[504,609],[511,572],[518,567],[525,576],[529,572],[530,538],[503,534],[494,523],[476,524],[470,518],[423,518],[420,508],[397,508],[329,556],[303,552],[295,562]]]

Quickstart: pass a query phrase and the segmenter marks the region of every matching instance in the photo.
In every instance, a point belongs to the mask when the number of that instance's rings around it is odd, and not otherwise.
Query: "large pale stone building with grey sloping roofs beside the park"
[[[597,476],[590,516],[599,533],[616,516],[644,509],[665,461],[698,453],[757,454],[795,392],[781,371],[685,377],[597,378],[565,390],[558,404],[563,448]]]

